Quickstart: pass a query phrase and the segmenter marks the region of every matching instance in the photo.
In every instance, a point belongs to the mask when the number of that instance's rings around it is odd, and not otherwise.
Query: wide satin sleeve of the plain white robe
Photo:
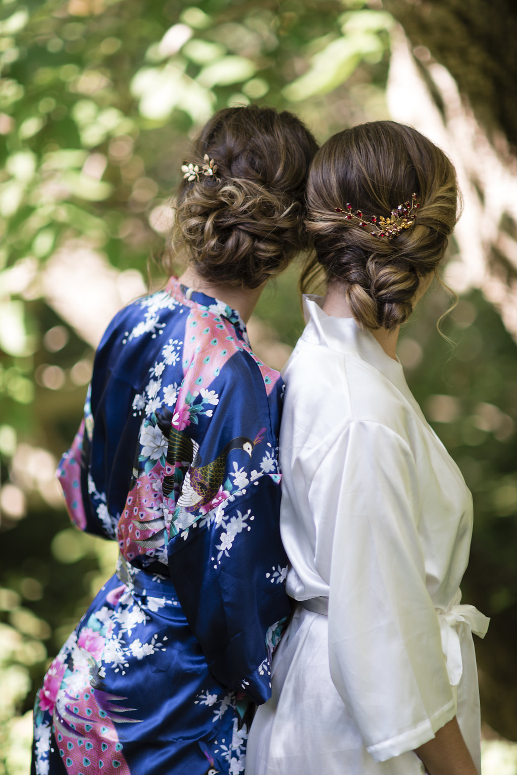
[[[426,589],[416,461],[392,430],[352,422],[310,489],[313,508],[336,518],[330,674],[368,752],[385,761],[432,739],[456,712]]]

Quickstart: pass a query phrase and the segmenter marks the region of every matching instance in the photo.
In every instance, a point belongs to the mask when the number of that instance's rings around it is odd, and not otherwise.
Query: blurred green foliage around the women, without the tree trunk
[[[320,140],[387,118],[391,27],[362,0],[0,3],[0,775],[27,771],[46,664],[114,567],[116,547],[70,527],[53,479],[80,419],[96,311],[138,294],[135,270],[146,275],[163,250],[188,138],[211,112],[291,109]],[[67,260],[68,307],[56,294]],[[290,346],[303,329],[296,275],[257,310]],[[152,282],[163,282],[158,264]],[[465,597],[513,621],[515,343],[474,293],[447,323],[451,351],[434,329],[444,306],[430,294],[401,358],[474,491]],[[481,656],[496,676],[489,649]]]

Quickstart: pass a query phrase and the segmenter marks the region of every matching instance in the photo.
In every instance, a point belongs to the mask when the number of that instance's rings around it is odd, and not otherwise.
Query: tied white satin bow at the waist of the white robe
[[[471,632],[480,638],[484,638],[490,623],[488,616],[482,614],[473,605],[460,605],[460,601],[461,590],[458,589],[447,611],[437,611],[443,656],[445,656],[451,686],[457,686],[460,683],[463,673],[459,634],[461,623],[464,622],[467,627],[470,627]]]

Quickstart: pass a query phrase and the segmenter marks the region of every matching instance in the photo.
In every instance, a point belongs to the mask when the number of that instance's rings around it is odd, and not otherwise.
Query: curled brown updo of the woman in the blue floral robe
[[[306,177],[316,151],[286,111],[226,108],[207,122],[187,162],[201,170],[207,154],[217,171],[183,179],[173,232],[201,277],[259,288],[306,248]]]

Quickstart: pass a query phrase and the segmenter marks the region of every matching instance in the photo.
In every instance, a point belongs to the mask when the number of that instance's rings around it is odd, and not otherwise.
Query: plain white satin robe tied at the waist
[[[480,770],[471,632],[488,619],[459,591],[471,494],[401,364],[320,302],[305,300],[280,436],[287,591],[305,602],[246,775],[420,775],[413,749],[455,714]]]

